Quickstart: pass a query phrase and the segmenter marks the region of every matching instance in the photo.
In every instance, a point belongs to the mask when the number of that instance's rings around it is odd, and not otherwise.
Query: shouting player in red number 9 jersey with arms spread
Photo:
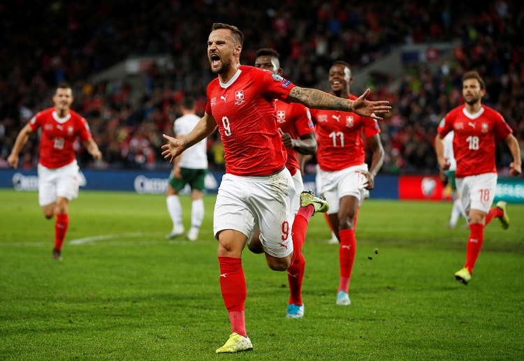
[[[285,167],[286,151],[278,131],[274,100],[308,108],[355,111],[381,119],[387,101],[367,101],[369,89],[354,101],[317,89],[296,87],[280,75],[240,65],[243,34],[229,24],[215,23],[208,38],[211,71],[208,104],[193,131],[182,140],[163,135],[163,156],[173,161],[185,149],[218,127],[226,173],[214,205],[213,232],[218,240],[220,288],[232,333],[217,353],[252,350],[245,325],[247,287],[242,250],[259,228],[265,260],[271,270],[286,271],[301,252],[312,214],[326,212],[328,203],[309,192],[300,194],[300,209],[292,211],[296,191]],[[293,221],[294,218],[294,221]]]

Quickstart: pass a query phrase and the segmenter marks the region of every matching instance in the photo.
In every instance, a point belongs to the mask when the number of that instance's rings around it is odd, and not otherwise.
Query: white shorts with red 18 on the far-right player
[[[483,173],[456,178],[458,196],[466,214],[471,209],[488,213],[497,191],[497,173]]]

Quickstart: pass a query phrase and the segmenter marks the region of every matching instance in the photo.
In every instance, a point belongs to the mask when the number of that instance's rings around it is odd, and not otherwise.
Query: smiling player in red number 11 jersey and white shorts
[[[329,70],[332,94],[343,99],[356,99],[349,88],[353,81],[345,61],[335,61]],[[356,217],[366,190],[373,189],[374,177],[384,163],[380,128],[375,119],[351,111],[311,110],[319,149],[321,193],[330,204],[328,216],[340,242],[338,257],[340,280],[336,304],[348,305],[349,282],[356,254]],[[365,163],[365,133],[372,150],[371,166]]]

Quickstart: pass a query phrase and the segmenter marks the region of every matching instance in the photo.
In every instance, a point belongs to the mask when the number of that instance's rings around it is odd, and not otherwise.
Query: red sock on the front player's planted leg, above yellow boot
[[[220,290],[231,321],[231,332],[247,337],[244,317],[247,286],[242,270],[242,260],[233,257],[219,257]]]

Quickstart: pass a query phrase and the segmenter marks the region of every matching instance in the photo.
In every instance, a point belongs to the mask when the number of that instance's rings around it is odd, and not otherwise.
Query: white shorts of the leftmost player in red
[[[57,197],[72,200],[78,198],[78,163],[73,161],[60,168],[46,168],[38,163],[38,204],[43,207],[57,200]]]

